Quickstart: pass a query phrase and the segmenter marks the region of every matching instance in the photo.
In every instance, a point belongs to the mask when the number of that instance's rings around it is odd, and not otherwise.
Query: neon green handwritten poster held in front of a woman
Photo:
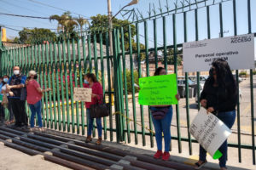
[[[140,105],[172,105],[177,104],[176,74],[143,77],[139,79]]]

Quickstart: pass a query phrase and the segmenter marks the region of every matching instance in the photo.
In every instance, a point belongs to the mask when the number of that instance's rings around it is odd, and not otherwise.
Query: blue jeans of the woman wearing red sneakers
[[[160,110],[160,107],[150,107],[151,110]],[[151,115],[152,116],[152,115]],[[155,140],[157,144],[157,150],[162,150],[162,133],[164,133],[165,140],[165,151],[169,152],[171,144],[171,122],[172,122],[172,106],[166,113],[163,119],[156,120],[152,116],[152,121],[154,124]]]

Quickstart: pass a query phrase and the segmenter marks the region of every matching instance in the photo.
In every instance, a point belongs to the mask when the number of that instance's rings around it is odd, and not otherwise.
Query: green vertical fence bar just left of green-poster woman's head
[[[145,35],[145,54],[146,54],[146,70],[147,77],[149,77],[149,61],[148,61],[148,23],[144,21],[144,35]],[[148,120],[149,120],[149,130],[150,130],[150,145],[154,147],[154,133],[153,133],[153,125],[152,125],[152,116],[150,114],[150,110],[148,107]]]

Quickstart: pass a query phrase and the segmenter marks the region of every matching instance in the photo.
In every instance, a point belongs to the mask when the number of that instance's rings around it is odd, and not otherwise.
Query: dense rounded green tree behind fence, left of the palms
[[[27,29],[24,28],[19,32],[20,38],[16,38],[14,42],[21,43],[33,43],[33,42],[44,42],[49,40],[55,40],[55,32],[44,28]]]

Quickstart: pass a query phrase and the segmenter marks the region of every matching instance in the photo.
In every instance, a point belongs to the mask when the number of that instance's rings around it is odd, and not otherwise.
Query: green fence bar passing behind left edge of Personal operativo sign
[[[184,26],[184,42],[187,42],[187,12],[183,13],[183,26]],[[188,138],[189,138],[189,155],[192,155],[192,140],[191,134],[189,133],[190,127],[190,117],[189,117],[189,83],[188,83],[188,72],[185,72],[185,88],[186,88],[186,115],[187,115],[187,130],[188,130]],[[193,93],[191,94],[193,96]]]

